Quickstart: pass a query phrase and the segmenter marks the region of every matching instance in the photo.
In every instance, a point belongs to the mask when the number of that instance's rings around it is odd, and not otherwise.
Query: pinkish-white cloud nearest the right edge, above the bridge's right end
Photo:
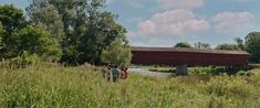
[[[212,18],[215,31],[218,33],[233,33],[253,26],[254,15],[250,12],[220,12]]]

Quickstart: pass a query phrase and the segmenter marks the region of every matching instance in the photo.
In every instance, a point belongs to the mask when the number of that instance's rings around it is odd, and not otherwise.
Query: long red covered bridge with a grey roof
[[[187,66],[243,66],[249,57],[245,51],[141,46],[133,46],[132,54],[133,64],[177,65],[177,72],[187,71]]]

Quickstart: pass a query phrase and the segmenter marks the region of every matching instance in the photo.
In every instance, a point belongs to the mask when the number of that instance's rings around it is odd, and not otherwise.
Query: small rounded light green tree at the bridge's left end
[[[129,66],[131,65],[131,48],[127,45],[122,45],[119,39],[111,43],[102,52],[102,62],[114,66]]]

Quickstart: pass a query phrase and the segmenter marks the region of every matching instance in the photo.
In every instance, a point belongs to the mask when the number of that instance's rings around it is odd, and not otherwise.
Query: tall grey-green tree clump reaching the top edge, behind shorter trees
[[[127,43],[125,28],[116,22],[116,15],[104,10],[104,3],[105,0],[33,0],[27,11],[32,22],[45,24],[58,39],[62,36],[62,62],[101,64],[102,51],[116,37]]]

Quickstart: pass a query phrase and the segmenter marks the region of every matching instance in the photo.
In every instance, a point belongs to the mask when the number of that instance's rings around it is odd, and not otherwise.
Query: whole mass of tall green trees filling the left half
[[[127,31],[104,3],[32,0],[25,14],[12,4],[0,6],[0,58],[37,55],[72,65],[128,65]]]

